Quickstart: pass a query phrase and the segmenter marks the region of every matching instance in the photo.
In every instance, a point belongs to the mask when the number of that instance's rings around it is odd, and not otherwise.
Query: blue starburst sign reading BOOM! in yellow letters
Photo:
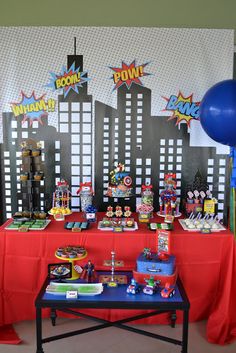
[[[53,91],[62,89],[64,93],[64,97],[70,92],[70,90],[79,93],[79,87],[82,87],[83,83],[91,80],[87,77],[88,71],[80,72],[80,67],[75,69],[75,63],[71,65],[69,70],[67,70],[64,66],[62,67],[60,74],[51,74],[51,82],[46,85],[46,87],[50,87]]]

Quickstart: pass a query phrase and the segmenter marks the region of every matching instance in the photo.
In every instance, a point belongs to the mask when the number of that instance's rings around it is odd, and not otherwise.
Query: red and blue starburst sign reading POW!
[[[151,75],[147,72],[144,72],[145,66],[149,63],[142,64],[136,66],[135,60],[130,64],[127,65],[124,61],[122,61],[122,67],[110,67],[115,73],[112,75],[111,79],[115,84],[113,91],[122,85],[126,85],[128,89],[130,89],[132,83],[136,83],[137,85],[144,86],[142,81],[140,80],[143,76]]]

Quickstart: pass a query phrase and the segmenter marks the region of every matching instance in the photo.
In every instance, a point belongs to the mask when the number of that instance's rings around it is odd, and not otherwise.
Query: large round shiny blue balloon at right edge
[[[211,87],[199,108],[200,122],[213,140],[236,146],[236,80],[225,80]]]

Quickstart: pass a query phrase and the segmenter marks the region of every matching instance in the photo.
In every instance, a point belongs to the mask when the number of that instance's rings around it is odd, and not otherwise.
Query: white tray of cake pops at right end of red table
[[[189,232],[201,232],[203,229],[208,229],[211,232],[220,232],[226,230],[219,222],[207,222],[205,220],[191,220],[189,218],[178,220],[184,230]]]

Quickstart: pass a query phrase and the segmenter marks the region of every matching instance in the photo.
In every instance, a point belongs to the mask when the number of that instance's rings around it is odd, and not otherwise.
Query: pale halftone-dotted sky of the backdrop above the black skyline
[[[152,90],[151,114],[163,112],[162,96],[194,94],[201,100],[214,83],[232,78],[233,31],[211,29],[114,28],[114,27],[1,27],[0,28],[0,111],[10,111],[10,102],[19,101],[20,92],[44,93],[49,72],[60,73],[66,55],[83,55],[84,70],[91,78],[88,92],[94,100],[116,107],[116,92],[110,67],[124,61],[149,63],[142,78]],[[112,94],[111,94],[112,93]],[[57,126],[57,114],[49,123]],[[2,135],[1,135],[2,140]]]

